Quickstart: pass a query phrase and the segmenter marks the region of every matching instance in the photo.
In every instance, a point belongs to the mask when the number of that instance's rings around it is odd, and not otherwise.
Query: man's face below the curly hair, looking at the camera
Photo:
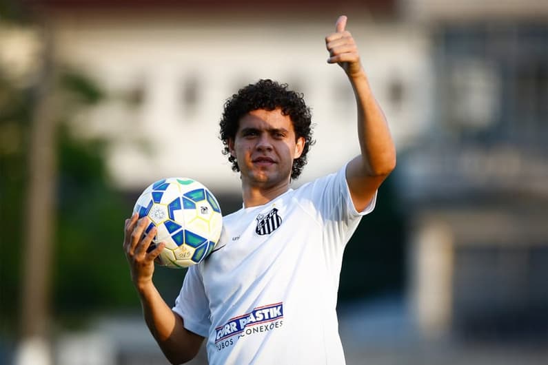
[[[290,116],[281,110],[254,110],[239,123],[230,154],[236,157],[242,183],[271,188],[289,184],[293,160],[301,156],[305,138],[296,138]]]

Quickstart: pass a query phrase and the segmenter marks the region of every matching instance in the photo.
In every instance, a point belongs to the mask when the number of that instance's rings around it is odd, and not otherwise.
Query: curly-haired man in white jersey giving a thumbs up
[[[187,271],[173,309],[152,283],[154,230],[125,222],[124,249],[145,321],[170,362],[204,339],[210,364],[344,364],[336,294],[345,244],[396,164],[383,112],[369,88],[347,18],[325,38],[354,89],[361,153],[335,174],[290,189],[312,143],[309,110],[270,80],[225,104],[221,138],[240,172],[243,208],[223,218],[215,251]],[[344,143],[344,141],[338,141]]]

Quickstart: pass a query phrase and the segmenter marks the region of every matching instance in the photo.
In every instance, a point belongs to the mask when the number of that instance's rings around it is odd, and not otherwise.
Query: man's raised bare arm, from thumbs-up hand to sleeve
[[[361,154],[347,166],[346,178],[354,207],[367,207],[383,180],[396,167],[396,147],[388,124],[363,70],[352,34],[346,30],[347,17],[338,17],[335,32],[325,37],[328,63],[337,63],[348,76],[358,107],[358,140]]]

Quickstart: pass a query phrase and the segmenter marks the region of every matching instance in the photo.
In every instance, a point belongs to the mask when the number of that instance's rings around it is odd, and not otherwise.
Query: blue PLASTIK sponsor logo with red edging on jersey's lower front
[[[234,317],[222,326],[216,327],[215,343],[217,344],[218,342],[223,342],[227,340],[228,337],[232,337],[234,335],[241,335],[240,337],[243,337],[243,332],[246,329],[249,330],[251,326],[274,322],[280,320],[281,318],[283,318],[283,303],[280,302],[276,304],[268,304],[266,306],[259,306],[253,309],[250,313],[245,313],[244,315]],[[279,326],[281,326],[281,324],[272,326],[272,328],[267,326],[266,331],[278,328]]]

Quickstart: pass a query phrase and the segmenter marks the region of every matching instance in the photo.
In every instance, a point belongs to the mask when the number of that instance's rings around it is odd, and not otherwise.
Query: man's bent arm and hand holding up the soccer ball
[[[187,331],[183,326],[183,318],[174,313],[165,303],[156,286],[152,282],[154,259],[163,249],[163,244],[150,252],[150,242],[156,234],[151,229],[145,238],[143,231],[149,224],[148,218],[137,220],[135,213],[125,220],[123,250],[130,263],[132,282],[139,293],[145,322],[150,333],[158,342],[165,357],[172,364],[182,364],[190,361],[198,353],[203,337]]]

